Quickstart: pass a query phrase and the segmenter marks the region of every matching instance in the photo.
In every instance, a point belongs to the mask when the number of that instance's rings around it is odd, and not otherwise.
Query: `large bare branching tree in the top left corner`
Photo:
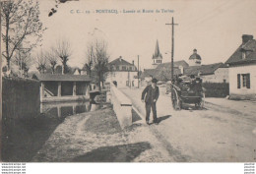
[[[41,41],[45,29],[39,21],[39,3],[33,3],[32,0],[1,2],[1,16],[5,46],[2,55],[10,70],[10,61],[19,46],[23,44],[31,51]]]

